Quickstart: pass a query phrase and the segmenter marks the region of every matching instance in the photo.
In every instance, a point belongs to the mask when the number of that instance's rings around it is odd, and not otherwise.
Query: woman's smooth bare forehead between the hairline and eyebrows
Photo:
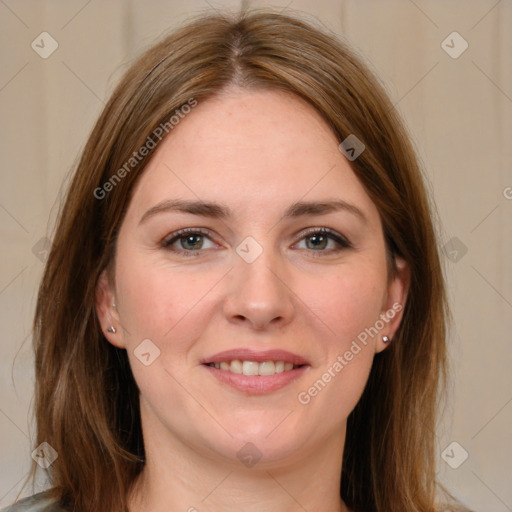
[[[160,143],[136,186],[133,208],[142,214],[160,201],[190,198],[254,216],[301,199],[339,197],[371,217],[375,207],[338,145],[304,100],[230,89],[198,102]]]

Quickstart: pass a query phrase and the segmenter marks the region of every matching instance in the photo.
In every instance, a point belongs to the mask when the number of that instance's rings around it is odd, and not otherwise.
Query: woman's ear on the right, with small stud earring
[[[395,333],[402,321],[410,280],[411,272],[409,265],[407,265],[404,259],[395,257],[395,271],[391,275],[382,303],[380,319],[384,327],[381,329],[377,339],[376,352],[385,350],[393,343]],[[385,342],[382,339],[383,336],[387,336],[389,341]]]

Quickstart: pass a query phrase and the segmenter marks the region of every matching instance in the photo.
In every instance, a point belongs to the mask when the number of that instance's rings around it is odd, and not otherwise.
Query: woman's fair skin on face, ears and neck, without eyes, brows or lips
[[[338,145],[303,100],[230,88],[200,102],[155,150],[119,232],[115,282],[103,273],[97,288],[105,336],[127,350],[140,389],[147,462],[131,512],[347,510],[339,497],[346,420],[400,313],[308,404],[297,397],[379,315],[405,303],[409,277],[400,260],[388,275],[378,211]],[[223,203],[233,217],[167,211],[140,222],[169,199]],[[281,219],[295,201],[332,199],[365,220],[347,210]],[[196,256],[162,247],[190,227],[210,234],[172,247]],[[322,227],[352,247],[330,238],[315,245],[303,233]],[[248,236],[263,250],[252,263],[236,252]],[[134,354],[145,339],[160,350],[149,366]],[[311,367],[251,396],[200,364],[239,347],[288,350]],[[262,454],[252,467],[237,457],[249,442]]]

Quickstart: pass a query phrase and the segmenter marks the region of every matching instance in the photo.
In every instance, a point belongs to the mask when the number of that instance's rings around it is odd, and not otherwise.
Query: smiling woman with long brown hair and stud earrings
[[[34,323],[52,488],[10,510],[454,510],[446,315],[365,65],[292,17],[194,20],[123,77],[69,187]]]

